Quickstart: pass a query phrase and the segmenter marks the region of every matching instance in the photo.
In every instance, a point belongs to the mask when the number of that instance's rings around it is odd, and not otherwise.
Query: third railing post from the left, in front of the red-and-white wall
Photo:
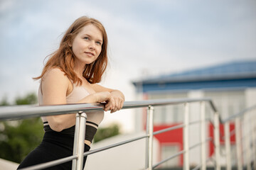
[[[183,127],[183,169],[189,170],[189,104],[185,103],[185,112],[184,112],[184,127]]]

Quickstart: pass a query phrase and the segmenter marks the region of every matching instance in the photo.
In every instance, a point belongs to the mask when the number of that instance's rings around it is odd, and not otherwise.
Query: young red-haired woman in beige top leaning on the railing
[[[82,16],[66,31],[45,67],[38,91],[40,105],[106,102],[111,113],[122,108],[121,91],[98,85],[107,67],[107,33],[94,18]],[[85,152],[102,121],[104,111],[87,113]],[[18,169],[53,161],[73,154],[75,114],[42,117],[45,135],[41,145],[21,162]],[[85,165],[86,157],[84,159]],[[48,169],[71,169],[67,162]]]

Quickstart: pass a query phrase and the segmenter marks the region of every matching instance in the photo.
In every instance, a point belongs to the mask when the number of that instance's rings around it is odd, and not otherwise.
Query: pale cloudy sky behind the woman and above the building
[[[0,101],[37,93],[32,77],[80,16],[105,26],[110,65],[100,84],[123,91],[126,101],[138,99],[138,79],[256,59],[255,0],[0,0]],[[105,120],[129,132],[134,114]]]

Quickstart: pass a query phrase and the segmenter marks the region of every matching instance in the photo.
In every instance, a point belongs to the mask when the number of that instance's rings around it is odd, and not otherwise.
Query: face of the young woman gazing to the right
[[[99,28],[92,23],[84,26],[72,43],[72,50],[76,62],[90,64],[99,57],[102,50],[102,33]]]

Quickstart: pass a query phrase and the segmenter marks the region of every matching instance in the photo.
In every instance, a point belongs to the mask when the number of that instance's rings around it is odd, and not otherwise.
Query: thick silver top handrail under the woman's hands
[[[147,106],[164,106],[178,103],[193,103],[198,101],[208,101],[213,111],[217,111],[210,98],[178,98],[178,99],[157,99],[147,101],[124,101],[122,109],[143,108]],[[77,113],[78,111],[102,111],[104,103],[77,103],[51,106],[2,106],[0,107],[0,120],[14,120],[21,118],[34,118],[46,115],[63,115]]]

